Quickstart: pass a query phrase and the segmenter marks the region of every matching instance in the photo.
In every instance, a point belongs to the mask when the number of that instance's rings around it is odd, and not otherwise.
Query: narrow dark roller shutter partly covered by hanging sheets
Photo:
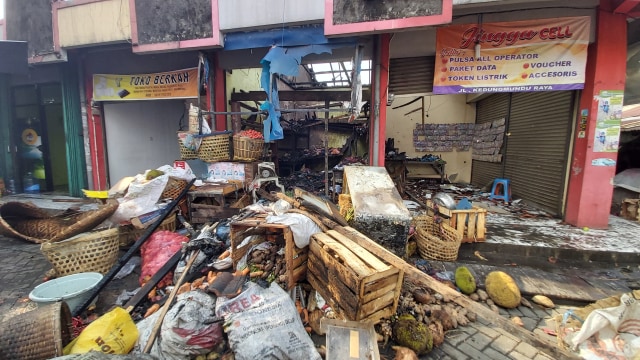
[[[476,124],[507,118],[510,94],[495,94],[476,103]],[[504,161],[504,157],[503,157]],[[473,160],[471,183],[483,187],[495,178],[502,177],[502,163]]]

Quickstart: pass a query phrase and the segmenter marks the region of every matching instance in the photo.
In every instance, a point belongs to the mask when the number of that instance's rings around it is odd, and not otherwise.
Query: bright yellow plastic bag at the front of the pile
[[[117,307],[89,324],[80,336],[64,348],[64,354],[91,350],[105,354],[128,354],[138,340],[138,328],[129,313]]]

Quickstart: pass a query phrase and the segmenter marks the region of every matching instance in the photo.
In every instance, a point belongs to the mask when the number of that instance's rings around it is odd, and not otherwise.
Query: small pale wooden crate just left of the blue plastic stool
[[[433,215],[434,204],[427,200],[429,215]],[[469,210],[449,210],[443,206],[438,207],[438,212],[443,217],[449,218],[449,225],[462,234],[462,242],[484,242],[486,239],[487,209],[473,206]]]

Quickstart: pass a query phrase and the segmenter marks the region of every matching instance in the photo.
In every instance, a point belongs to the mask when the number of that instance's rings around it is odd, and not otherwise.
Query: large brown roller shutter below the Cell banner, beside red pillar
[[[514,93],[504,177],[514,196],[563,213],[574,92]]]

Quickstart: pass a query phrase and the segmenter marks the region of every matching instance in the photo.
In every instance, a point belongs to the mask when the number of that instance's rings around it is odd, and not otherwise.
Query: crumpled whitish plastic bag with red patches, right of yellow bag
[[[201,291],[180,294],[164,317],[150,354],[158,359],[188,360],[192,355],[207,354],[223,341],[222,324],[216,322],[215,300]],[[147,346],[160,312],[138,323],[140,339],[134,349],[140,353]]]

